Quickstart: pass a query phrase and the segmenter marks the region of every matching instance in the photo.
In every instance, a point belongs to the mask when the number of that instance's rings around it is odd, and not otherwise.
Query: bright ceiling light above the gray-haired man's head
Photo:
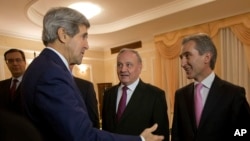
[[[87,19],[91,19],[101,12],[101,8],[98,5],[90,2],[77,2],[68,7],[81,12]]]

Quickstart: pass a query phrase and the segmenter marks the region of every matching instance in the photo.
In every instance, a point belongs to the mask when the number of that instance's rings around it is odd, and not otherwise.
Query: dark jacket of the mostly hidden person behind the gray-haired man
[[[99,114],[97,108],[97,100],[96,100],[96,93],[94,90],[94,86],[91,82],[74,77],[76,85],[78,86],[81,96],[86,104],[89,117],[93,123],[95,128],[100,128],[99,123]]]

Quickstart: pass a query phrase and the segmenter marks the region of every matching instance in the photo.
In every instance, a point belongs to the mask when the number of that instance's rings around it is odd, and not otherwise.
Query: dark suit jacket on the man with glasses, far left
[[[0,81],[0,108],[22,115],[22,108],[20,104],[20,85],[17,87],[14,98],[11,99],[11,80],[12,78]]]

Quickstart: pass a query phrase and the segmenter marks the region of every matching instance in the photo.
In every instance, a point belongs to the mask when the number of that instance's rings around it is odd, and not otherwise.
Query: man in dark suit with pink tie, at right
[[[195,82],[175,93],[172,141],[250,140],[245,89],[214,73],[216,57],[216,47],[208,35],[200,33],[183,39],[181,66],[187,78]],[[196,88],[198,84],[200,89]],[[242,129],[247,133],[239,136]]]

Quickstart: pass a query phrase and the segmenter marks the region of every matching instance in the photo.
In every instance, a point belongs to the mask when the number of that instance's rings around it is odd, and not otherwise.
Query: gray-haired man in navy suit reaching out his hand
[[[89,21],[76,10],[50,9],[43,19],[46,48],[27,68],[21,85],[24,112],[45,141],[160,141],[157,125],[140,136],[118,135],[92,126],[69,65],[81,64],[89,48]]]

